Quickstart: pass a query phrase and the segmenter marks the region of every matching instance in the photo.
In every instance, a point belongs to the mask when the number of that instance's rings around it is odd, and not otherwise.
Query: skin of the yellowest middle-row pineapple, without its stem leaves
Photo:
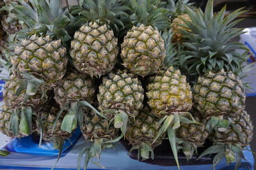
[[[189,111],[192,107],[192,92],[178,69],[161,69],[150,77],[147,85],[148,105],[157,117],[164,117],[161,111],[171,114],[176,111]]]

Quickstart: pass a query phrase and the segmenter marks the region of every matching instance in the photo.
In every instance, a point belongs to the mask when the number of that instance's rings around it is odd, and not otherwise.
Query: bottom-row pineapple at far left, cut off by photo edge
[[[23,127],[19,127],[17,124],[12,124],[11,121],[11,117],[12,114],[15,114],[15,110],[18,110],[19,108],[10,108],[9,106],[3,105],[1,108],[1,112],[0,112],[0,132],[2,132],[3,134],[5,134],[6,136],[9,136],[11,138],[23,138],[28,136],[29,134],[31,134],[33,131],[36,130],[36,124],[35,124],[35,117],[32,117],[31,120],[31,131],[30,128],[28,129],[28,127],[19,124],[19,126],[23,126]],[[23,109],[23,108],[22,108]],[[16,115],[13,115],[13,117],[15,117]],[[20,117],[17,117],[17,121],[20,120]],[[17,127],[15,127],[17,126]],[[9,129],[10,127],[10,129]]]

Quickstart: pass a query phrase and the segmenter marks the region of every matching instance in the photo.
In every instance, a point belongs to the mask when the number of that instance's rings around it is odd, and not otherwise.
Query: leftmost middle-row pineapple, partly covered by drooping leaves
[[[36,106],[44,104],[47,101],[47,96],[45,96],[41,91],[47,91],[47,88],[45,89],[44,87],[41,90],[38,90],[38,92],[33,96],[28,96],[26,94],[26,89],[22,89],[20,92],[18,92],[22,86],[22,82],[24,81],[26,80],[17,78],[14,75],[11,75],[10,80],[6,81],[3,92],[4,104],[6,104],[6,106],[15,108],[24,105],[35,108]],[[26,99],[26,97],[28,97],[28,99]],[[26,99],[26,101],[24,101],[24,99]]]

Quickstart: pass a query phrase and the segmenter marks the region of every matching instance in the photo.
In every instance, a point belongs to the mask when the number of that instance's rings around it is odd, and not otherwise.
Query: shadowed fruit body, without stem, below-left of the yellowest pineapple
[[[125,138],[132,146],[140,146],[141,143],[148,143],[152,148],[155,148],[161,145],[166,135],[166,133],[164,133],[153,143],[154,138],[157,136],[157,131],[159,131],[158,122],[159,118],[150,113],[148,108],[143,108],[135,118],[135,121],[127,128]]]

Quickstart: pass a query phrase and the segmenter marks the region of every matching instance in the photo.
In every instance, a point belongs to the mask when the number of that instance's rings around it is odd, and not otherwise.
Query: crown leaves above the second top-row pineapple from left
[[[123,18],[128,17],[130,10],[124,0],[81,0],[80,6],[72,7],[72,15],[76,17],[76,25],[97,21],[106,24],[118,32],[124,29]]]

